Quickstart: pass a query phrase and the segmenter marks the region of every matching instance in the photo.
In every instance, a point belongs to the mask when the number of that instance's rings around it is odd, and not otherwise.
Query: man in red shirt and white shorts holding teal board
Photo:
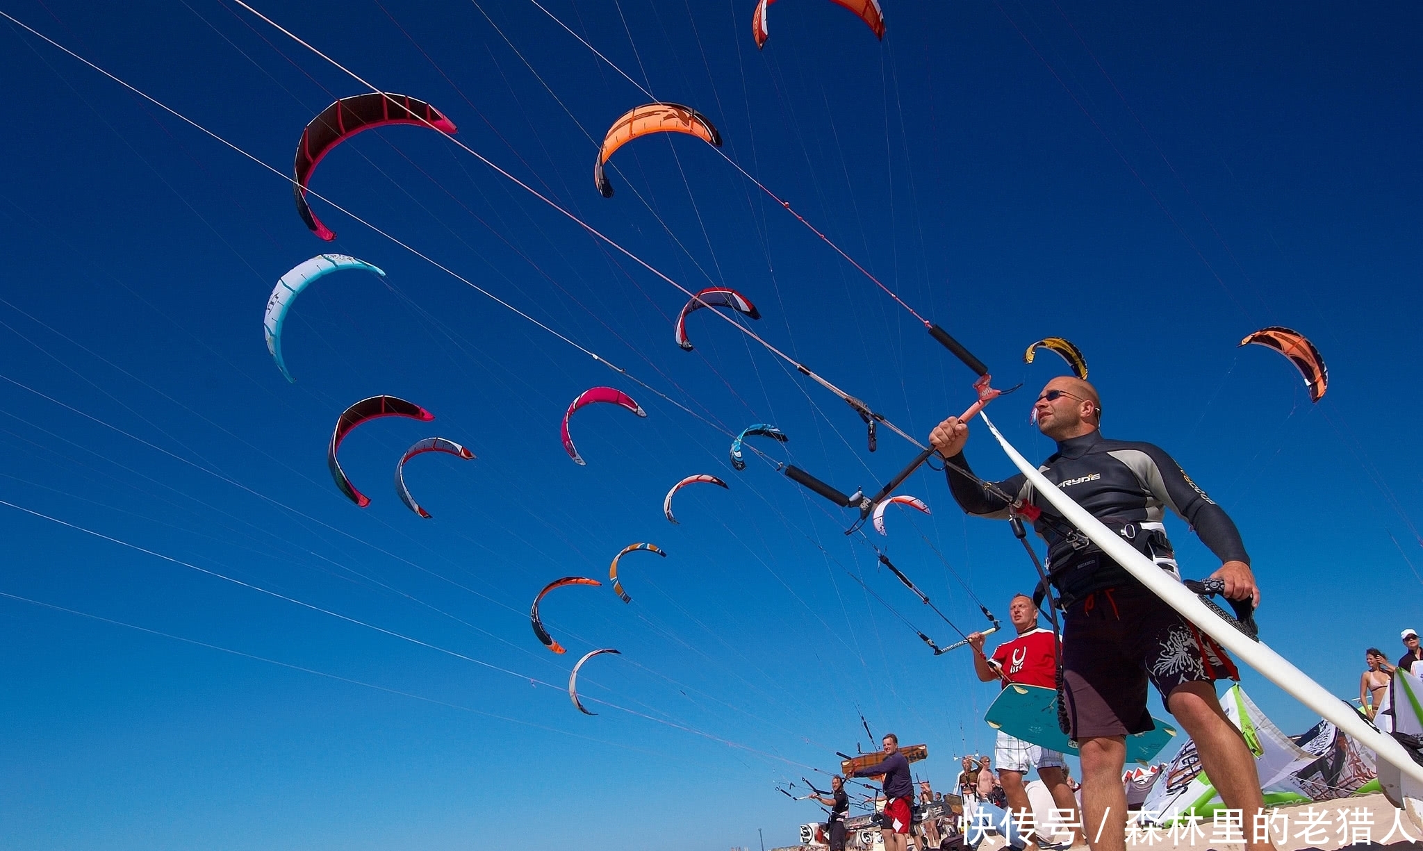
[[[999,680],[1006,687],[1007,683],[1023,683],[1025,686],[1042,686],[1044,689],[1057,687],[1057,636],[1050,629],[1037,626],[1037,606],[1033,598],[1019,593],[1007,608],[1009,620],[1017,629],[1017,638],[1005,642],[993,650],[993,657],[983,655],[983,633],[970,633],[969,645],[973,648],[973,672],[985,683]],[[1007,793],[1007,805],[1020,814],[1030,814],[1032,804],[1027,801],[1027,788],[1023,786],[1023,774],[1037,768],[1047,791],[1053,796],[1053,803],[1059,810],[1072,811],[1070,824],[1080,825],[1077,815],[1077,801],[1073,798],[1072,787],[1067,786],[1063,754],[1049,750],[1022,739],[1015,739],[1002,730],[998,733],[998,744],[993,750],[993,761],[998,763],[999,781]],[[1026,818],[1026,815],[1020,815]],[[1036,825],[1039,828],[1044,825]],[[1072,842],[1086,844],[1081,828],[1073,828]],[[1040,842],[1029,842],[1026,851],[1035,851]]]

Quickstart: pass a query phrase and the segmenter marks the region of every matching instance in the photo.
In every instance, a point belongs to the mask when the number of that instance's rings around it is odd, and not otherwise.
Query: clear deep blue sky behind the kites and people
[[[1395,655],[1423,620],[1419,10],[885,3],[882,43],[831,3],[778,3],[760,53],[741,0],[546,9],[657,98],[706,112],[730,158],[999,386],[1062,371],[1022,364],[1035,339],[1081,346],[1107,434],[1165,447],[1241,527],[1265,639],[1355,694],[1363,649]],[[4,11],[283,174],[306,121],[364,91],[235,6]],[[758,333],[912,434],[970,401],[970,376],[911,316],[703,144],[628,145],[601,198],[589,137],[646,97],[532,3],[487,3],[488,18],[458,3],[263,11],[435,104],[470,148],[683,286],[746,293]],[[692,322],[696,352],[677,350],[682,293],[437,134],[364,134],[313,188],[676,404],[314,199],[339,233],[322,243],[277,175],[17,27],[3,38],[7,847],[512,834],[710,850],[754,847],[757,828],[780,845],[818,810],[774,784],[864,744],[861,712],[877,734],[928,743],[921,774],[941,788],[952,756],[989,746],[993,686],[968,656],[929,655],[847,571],[939,643],[953,629],[827,502],[767,464],[731,471],[713,424],[774,423],[791,441],[770,455],[847,491],[914,447],[881,433],[865,453],[852,411],[710,316]],[[387,278],[333,276],[299,299],[287,384],[262,307],[323,250]],[[1321,404],[1284,359],[1235,349],[1266,324],[1323,352]],[[558,421],[595,384],[649,417],[581,413],[576,467]],[[437,420],[346,443],[373,498],[361,511],[323,453],[337,414],[377,393]],[[1043,457],[1029,400],[990,410]],[[431,434],[478,458],[411,462],[423,521],[388,481]],[[970,457],[1009,472],[982,434]],[[731,490],[683,492],[669,525],[662,495],[693,472]],[[904,490],[932,518],[892,514],[877,542],[958,628],[983,623],[956,578],[1006,615],[1032,581],[1007,529],[963,518],[936,474]],[[1214,569],[1171,531],[1187,574]],[[534,593],[603,576],[633,541],[669,558],[623,562],[626,606],[608,588],[551,595],[569,653],[548,653]],[[623,655],[585,669],[586,717],[562,683],[606,646]],[[1244,682],[1286,730],[1313,723]]]

